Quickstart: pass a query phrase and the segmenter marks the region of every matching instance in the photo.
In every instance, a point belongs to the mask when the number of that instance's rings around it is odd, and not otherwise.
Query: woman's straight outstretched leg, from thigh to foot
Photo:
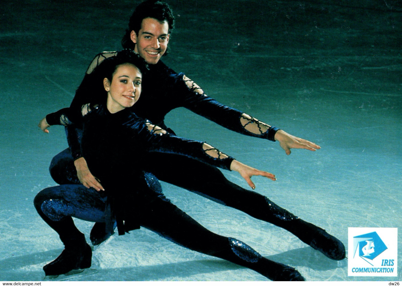
[[[248,267],[274,281],[304,281],[294,268],[262,257],[238,239],[212,233],[164,198],[144,204],[141,214],[142,226],[178,245]]]

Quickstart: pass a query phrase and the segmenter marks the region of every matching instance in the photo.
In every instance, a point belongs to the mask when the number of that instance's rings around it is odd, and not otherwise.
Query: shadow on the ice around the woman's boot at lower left
[[[207,274],[220,271],[237,270],[241,267],[221,259],[201,259],[195,261],[180,261],[158,265],[136,267],[115,267],[100,269],[99,262],[92,257],[92,266],[85,270],[69,272],[66,275],[45,276],[42,267],[57,257],[63,249],[53,249],[40,253],[32,253],[12,257],[0,261],[0,277],[4,280],[21,281],[149,281],[185,279],[188,276]],[[119,259],[118,257],[115,257]],[[81,272],[80,272],[81,271]],[[261,276],[264,278],[263,276]],[[265,279],[263,279],[265,280]]]

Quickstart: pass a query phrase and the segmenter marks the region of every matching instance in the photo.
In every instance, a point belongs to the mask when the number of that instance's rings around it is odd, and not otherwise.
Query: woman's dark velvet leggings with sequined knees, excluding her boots
[[[194,251],[248,267],[271,280],[281,279],[278,276],[285,265],[262,257],[237,239],[207,230],[166,199],[161,189],[149,189],[141,200],[144,202],[140,210],[141,226]],[[39,215],[59,233],[62,241],[80,234],[71,216],[92,222],[105,220],[106,197],[83,185],[43,189],[35,197],[34,204]]]

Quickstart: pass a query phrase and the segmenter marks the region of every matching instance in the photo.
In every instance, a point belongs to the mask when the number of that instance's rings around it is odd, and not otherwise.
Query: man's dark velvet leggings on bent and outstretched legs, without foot
[[[250,216],[289,230],[295,235],[298,217],[277,206],[267,197],[246,190],[228,179],[219,169],[185,156],[151,152],[144,170],[159,180],[188,189],[220,204],[236,208]],[[57,154],[49,167],[52,178],[59,184],[80,183],[70,149]]]

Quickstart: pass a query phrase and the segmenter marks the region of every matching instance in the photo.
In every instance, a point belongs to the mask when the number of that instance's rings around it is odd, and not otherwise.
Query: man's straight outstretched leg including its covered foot
[[[158,179],[284,228],[331,259],[345,258],[345,246],[336,237],[277,206],[267,197],[232,183],[219,169],[174,154],[154,152],[147,159],[147,171]]]

